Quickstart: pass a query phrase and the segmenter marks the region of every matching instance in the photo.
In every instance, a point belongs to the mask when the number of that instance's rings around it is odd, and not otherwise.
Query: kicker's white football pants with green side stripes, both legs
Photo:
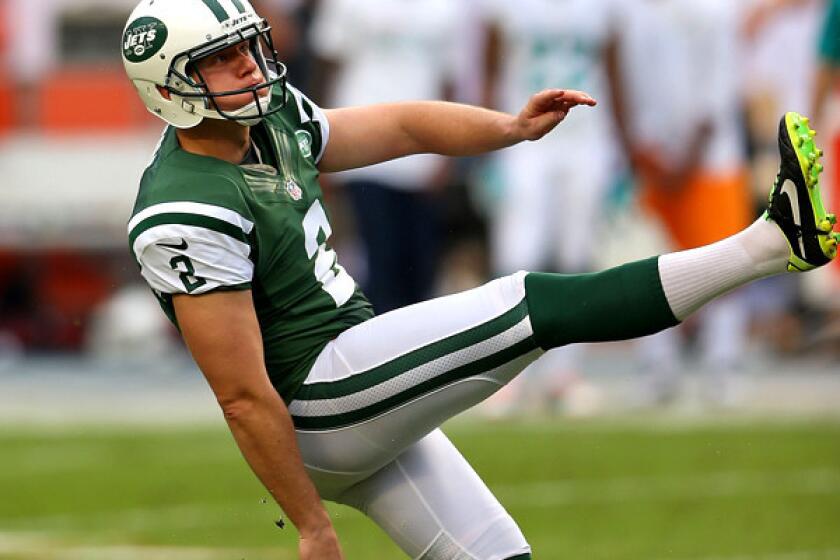
[[[540,355],[524,278],[517,273],[345,331],[289,405],[322,497],[364,512],[411,558],[503,560],[530,551],[437,429]]]

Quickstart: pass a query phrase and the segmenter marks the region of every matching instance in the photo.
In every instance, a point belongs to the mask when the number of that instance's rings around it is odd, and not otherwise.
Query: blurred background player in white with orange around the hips
[[[635,0],[624,32],[617,114],[643,206],[664,226],[672,250],[699,247],[741,230],[754,215],[741,127],[739,82],[744,8],[726,0]],[[647,64],[655,71],[639,72]],[[623,99],[622,99],[623,98]],[[622,119],[620,118],[620,121]],[[688,325],[690,327],[690,325]],[[743,294],[715,301],[696,317],[709,372],[706,396],[737,398],[732,373],[748,334]],[[680,338],[672,329],[640,342],[644,400],[676,396]]]

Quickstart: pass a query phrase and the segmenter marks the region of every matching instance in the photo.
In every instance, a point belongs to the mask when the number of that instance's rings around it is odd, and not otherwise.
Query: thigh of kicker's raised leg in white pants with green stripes
[[[327,345],[289,405],[304,462],[367,476],[539,354],[524,274],[386,313]]]

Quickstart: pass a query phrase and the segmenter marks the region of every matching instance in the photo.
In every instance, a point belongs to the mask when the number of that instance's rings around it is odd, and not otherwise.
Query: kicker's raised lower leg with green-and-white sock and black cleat
[[[822,152],[812,138],[807,119],[785,115],[768,210],[732,237],[597,274],[528,275],[528,307],[540,346],[652,334],[748,282],[831,261],[840,234],[832,232],[836,219],[823,207],[817,182]]]

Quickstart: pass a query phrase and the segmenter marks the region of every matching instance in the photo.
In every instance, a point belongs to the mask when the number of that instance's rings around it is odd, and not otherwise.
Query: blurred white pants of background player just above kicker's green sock
[[[498,154],[505,186],[490,232],[491,265],[497,274],[591,269],[599,239],[598,212],[614,178],[610,144],[599,136],[588,135],[577,143],[526,142]],[[562,383],[558,374],[578,368],[582,350],[549,352],[523,381],[552,390]]]

